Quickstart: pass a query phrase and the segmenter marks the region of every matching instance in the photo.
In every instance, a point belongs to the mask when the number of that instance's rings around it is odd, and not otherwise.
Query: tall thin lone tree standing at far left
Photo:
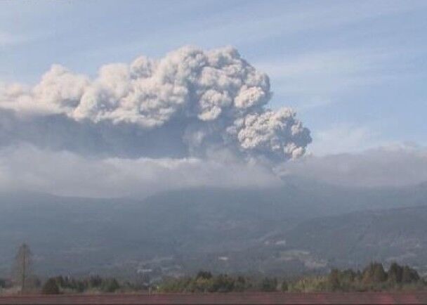
[[[13,265],[13,276],[15,282],[21,287],[21,292],[25,292],[34,279],[32,274],[32,252],[25,243],[20,245],[15,256]]]

